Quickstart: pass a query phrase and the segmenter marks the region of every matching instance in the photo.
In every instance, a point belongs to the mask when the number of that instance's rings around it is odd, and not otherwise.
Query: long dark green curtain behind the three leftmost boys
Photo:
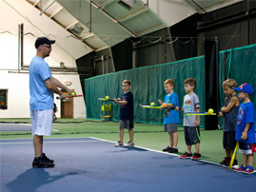
[[[174,91],[178,94],[180,106],[183,104],[184,80],[193,77],[197,80],[195,92],[198,94],[202,110],[205,110],[205,57],[197,57],[183,61],[153,66],[140,67],[126,71],[97,76],[85,80],[87,117],[99,119],[101,114],[101,102],[98,98],[121,97],[122,81],[131,81],[131,92],[134,96],[134,119],[139,123],[161,124],[163,111],[157,109],[145,109],[139,104],[149,105],[154,102],[159,106],[158,99],[164,100],[164,81],[171,78],[175,82]],[[113,120],[118,120],[119,106],[113,105]],[[180,113],[181,118],[183,113]],[[181,119],[181,122],[183,119]],[[201,125],[204,125],[201,118]]]

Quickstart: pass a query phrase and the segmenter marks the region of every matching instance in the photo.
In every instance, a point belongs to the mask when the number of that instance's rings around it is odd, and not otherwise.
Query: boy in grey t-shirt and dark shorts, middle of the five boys
[[[183,110],[184,114],[191,111],[200,111],[200,103],[198,96],[194,93],[194,88],[196,87],[196,80],[194,78],[188,78],[184,81],[184,88],[187,95],[184,96]],[[201,159],[201,154],[199,153],[200,138],[200,116],[184,116],[184,134],[187,144],[187,152],[180,156],[181,159]],[[195,153],[191,153],[191,145],[195,144]]]

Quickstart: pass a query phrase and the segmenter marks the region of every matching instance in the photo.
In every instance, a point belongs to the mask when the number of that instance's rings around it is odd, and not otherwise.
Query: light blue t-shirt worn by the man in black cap
[[[30,110],[53,108],[53,92],[48,89],[45,80],[51,79],[49,65],[41,57],[35,56],[30,62]]]

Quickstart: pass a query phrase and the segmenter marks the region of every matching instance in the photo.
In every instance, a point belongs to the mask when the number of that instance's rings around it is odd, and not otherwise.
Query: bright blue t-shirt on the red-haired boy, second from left
[[[172,104],[173,106],[179,106],[179,98],[178,95],[173,92],[170,95],[167,94],[165,96],[165,103],[166,104]],[[165,112],[164,117],[164,124],[179,124],[180,123],[180,116],[179,111],[176,110],[170,110]]]

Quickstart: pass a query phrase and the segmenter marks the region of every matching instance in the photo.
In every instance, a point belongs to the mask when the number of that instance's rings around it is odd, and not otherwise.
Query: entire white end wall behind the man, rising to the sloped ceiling
[[[7,4],[6,2],[10,4]],[[26,12],[27,15],[22,15],[20,11]],[[34,42],[38,36],[46,36],[46,34],[49,34],[50,30],[55,30],[55,37],[57,34],[63,35],[62,30],[64,29],[54,24],[54,22],[46,15],[42,15],[40,20],[38,20],[39,23],[36,25],[39,25],[40,27],[35,27],[34,23],[30,23],[32,20],[35,20],[35,17],[39,17],[39,12],[34,13],[34,11],[38,10],[34,9],[26,1],[0,1],[0,89],[9,90],[8,109],[0,109],[0,118],[30,118],[30,87],[28,70],[22,71],[27,73],[17,73],[18,25],[23,23],[25,33],[30,32],[36,35],[33,36],[29,34],[24,36],[25,66],[30,65],[30,61],[36,53]],[[46,29],[46,31],[44,31],[44,29]],[[52,45],[52,52],[50,53],[50,56],[46,58],[46,62],[48,62],[49,67],[60,67],[60,62],[65,63],[66,67],[76,67],[75,59],[79,55],[82,56],[84,51],[81,49],[81,45],[77,45],[78,54],[74,55],[70,54],[67,49],[62,47],[63,45],[66,45],[67,48],[70,48],[69,39],[62,38],[61,46],[57,43],[58,39],[56,40],[56,44]],[[73,52],[76,51],[75,48],[72,49]],[[15,73],[13,73],[13,71]],[[70,88],[75,89],[77,94],[82,94],[78,75],[52,74],[52,76],[60,80],[60,82],[64,82],[65,80],[71,81],[72,85]],[[55,102],[59,108],[57,117],[60,117],[60,101]],[[83,98],[74,99],[74,118],[86,118],[86,106]]]

